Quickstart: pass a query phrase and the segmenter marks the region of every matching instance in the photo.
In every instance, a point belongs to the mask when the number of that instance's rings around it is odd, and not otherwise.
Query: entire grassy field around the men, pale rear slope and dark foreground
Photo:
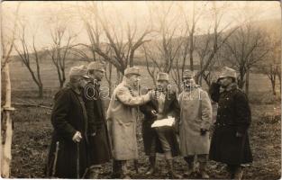
[[[79,64],[79,62],[75,64]],[[144,67],[141,68],[144,74],[141,82],[151,86],[150,76]],[[11,76],[13,102],[51,105],[51,97],[57,91],[59,82],[56,71],[48,63],[42,67],[41,74],[46,92],[43,99],[36,97],[36,85],[20,62],[13,62]],[[106,83],[103,82],[102,85],[106,85]],[[250,145],[254,162],[246,169],[244,179],[278,179],[281,175],[281,104],[277,97],[270,94],[270,90],[267,76],[260,74],[250,75],[250,106],[252,110]],[[15,106],[15,108],[17,111],[13,112],[12,116],[14,120],[12,177],[43,178],[43,168],[52,131],[50,110],[23,106]],[[142,150],[140,122],[138,123],[137,137],[140,150],[140,173],[132,173],[132,178],[168,178],[167,166],[162,155],[158,157],[159,173],[153,176],[143,175],[149,164]],[[186,170],[186,163],[181,157],[177,157],[175,166],[180,174]],[[133,171],[132,167],[131,170]],[[108,163],[103,167],[99,178],[109,178],[110,171],[111,166]],[[208,171],[212,178],[227,178],[227,173],[222,164],[209,162]],[[196,176],[184,178],[196,178]]]

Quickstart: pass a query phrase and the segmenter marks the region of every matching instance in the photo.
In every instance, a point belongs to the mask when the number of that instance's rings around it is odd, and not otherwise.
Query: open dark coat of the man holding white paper
[[[157,120],[151,111],[155,110],[158,112],[158,107],[158,100],[156,98],[153,98],[149,103],[145,103],[140,107],[141,112],[144,113],[144,120],[142,121],[142,138],[145,154],[147,156],[150,156],[150,154],[154,154],[156,152],[164,153],[163,149],[161,148],[157,131],[154,128],[151,128],[151,124]],[[175,117],[176,121],[179,121],[180,108],[177,102],[177,94],[173,92],[170,92],[168,95],[166,94],[163,113],[165,114],[164,118],[167,118],[168,115],[171,115]],[[168,127],[166,128],[165,136],[166,139],[168,139],[168,143],[171,147],[172,156],[176,157],[180,154],[176,131],[173,128]]]

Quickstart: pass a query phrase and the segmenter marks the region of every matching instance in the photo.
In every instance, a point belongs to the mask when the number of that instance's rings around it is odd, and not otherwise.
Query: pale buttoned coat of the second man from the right
[[[199,86],[179,94],[180,122],[179,139],[181,155],[208,154],[210,139],[208,131],[201,135],[201,129],[209,130],[213,111],[208,94]]]

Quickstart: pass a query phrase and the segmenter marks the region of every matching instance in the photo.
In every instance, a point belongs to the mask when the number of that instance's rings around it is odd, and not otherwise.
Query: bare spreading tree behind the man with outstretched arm
[[[116,69],[123,74],[124,69],[129,66],[132,67],[134,65],[134,53],[136,49],[139,49],[141,45],[147,41],[146,37],[150,34],[151,28],[148,26],[144,31],[141,31],[139,36],[137,35],[137,23],[127,23],[125,34],[119,33],[116,25],[114,23],[110,23],[110,21],[106,18],[107,16],[103,14],[103,8],[99,8],[96,2],[92,2],[87,7],[87,12],[92,14],[94,18],[94,22],[91,23],[85,20],[86,31],[91,42],[89,47],[94,54],[99,55],[105,61],[111,63],[116,67]],[[118,16],[116,16],[118,20]],[[123,24],[120,24],[120,27],[123,30]],[[100,42],[101,34],[105,35],[106,43]],[[126,39],[123,37],[126,36]],[[114,52],[114,58],[110,57],[108,54],[109,46],[111,50]]]

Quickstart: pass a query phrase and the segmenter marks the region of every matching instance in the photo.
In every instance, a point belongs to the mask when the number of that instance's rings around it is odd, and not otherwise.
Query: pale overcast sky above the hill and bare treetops
[[[89,2],[88,2],[89,3]],[[148,23],[149,9],[148,4],[154,4],[157,6],[157,10],[161,9],[163,5],[169,4],[170,2],[99,2],[104,5],[105,15],[108,19],[112,20],[115,26],[119,26],[120,23],[132,23],[136,22],[139,29],[144,28],[144,24]],[[189,14],[192,12],[192,4],[194,2],[178,2]],[[206,3],[205,1],[195,2],[196,7],[201,9],[205,5],[211,6],[211,3]],[[9,27],[11,27],[11,19],[14,17],[15,7],[18,2],[4,2],[2,3],[2,30],[4,36],[9,35]],[[223,15],[223,25],[232,23],[236,25],[237,22],[241,20],[242,14],[249,11],[249,14],[257,14],[257,20],[267,20],[267,19],[280,19],[281,9],[280,4],[277,1],[258,1],[258,2],[244,2],[244,1],[234,1],[234,2],[217,2],[218,6],[227,4],[225,8],[225,13]],[[246,4],[249,8],[246,10]],[[42,47],[50,47],[51,37],[50,37],[50,26],[52,21],[54,21],[54,14],[59,14],[59,16],[66,18],[69,23],[69,29],[72,32],[80,32],[77,37],[77,42],[89,43],[86,31],[84,30],[84,25],[80,21],[79,13],[77,13],[77,7],[86,6],[86,2],[23,2],[20,6],[20,17],[22,22],[26,24],[27,40],[31,40],[32,34],[36,34],[36,45],[41,49]],[[175,11],[175,12],[173,12]],[[172,14],[177,14],[177,9],[172,9]],[[69,16],[71,14],[71,16]],[[239,15],[241,14],[241,16]],[[248,14],[248,12],[247,12]],[[119,20],[117,19],[119,17]],[[235,19],[237,20],[235,21]],[[69,20],[70,19],[70,20]],[[178,18],[181,19],[181,18]],[[177,20],[178,21],[178,20]],[[181,21],[181,20],[179,20]],[[205,14],[203,18],[200,19],[197,27],[198,33],[205,33],[209,22],[211,22],[211,15]],[[179,25],[179,24],[177,24]]]

